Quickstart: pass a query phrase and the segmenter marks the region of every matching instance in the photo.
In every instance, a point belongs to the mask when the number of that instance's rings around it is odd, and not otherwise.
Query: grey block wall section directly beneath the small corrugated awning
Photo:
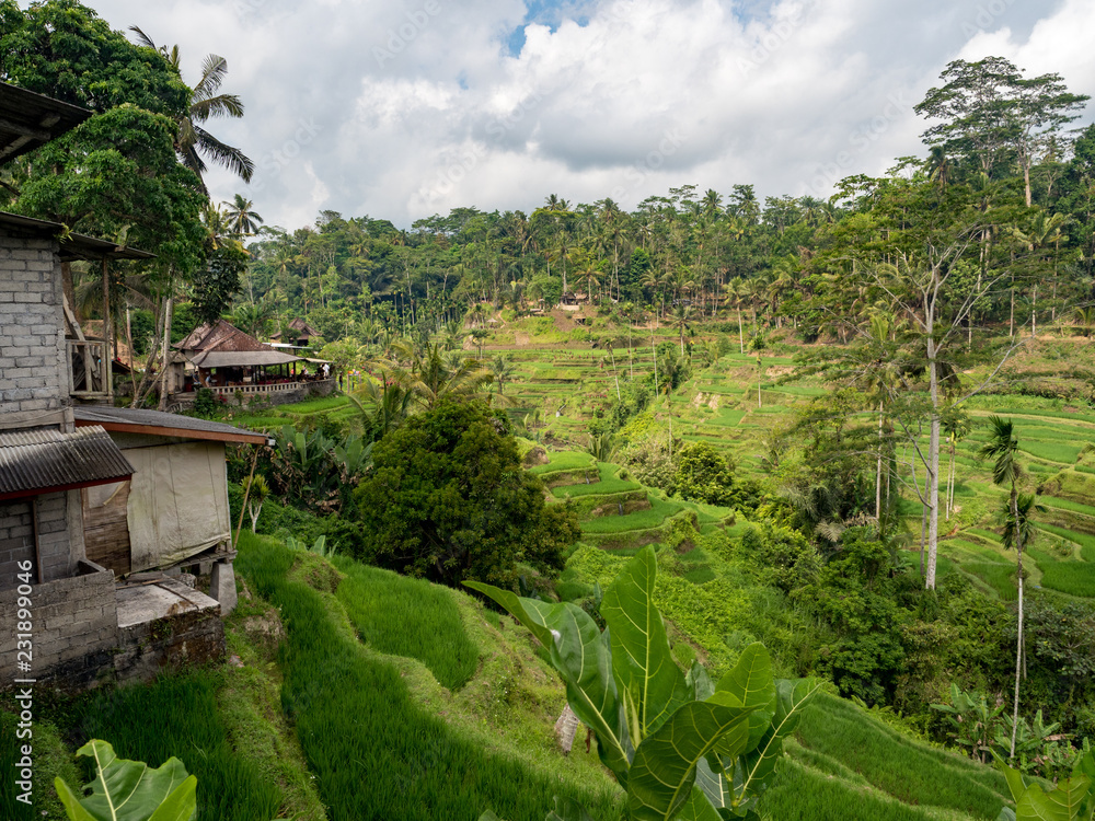
[[[71,576],[83,546],[69,533],[72,494],[55,493],[37,497],[38,553],[42,577],[34,581],[54,581]],[[79,498],[79,496],[77,496]],[[15,587],[20,562],[36,564],[34,550],[34,502],[31,499],[0,502],[0,590]]]

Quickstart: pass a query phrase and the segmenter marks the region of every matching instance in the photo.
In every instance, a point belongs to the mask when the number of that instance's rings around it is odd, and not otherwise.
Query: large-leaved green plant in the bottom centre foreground
[[[549,648],[570,709],[592,730],[601,762],[627,793],[627,818],[757,819],[783,741],[818,687],[774,680],[759,643],[717,684],[699,663],[685,675],[654,606],[656,577],[654,548],[644,547],[604,592],[603,633],[569,602],[464,583],[498,602]],[[481,821],[493,818],[486,812]],[[548,818],[585,821],[589,814],[556,801]]]

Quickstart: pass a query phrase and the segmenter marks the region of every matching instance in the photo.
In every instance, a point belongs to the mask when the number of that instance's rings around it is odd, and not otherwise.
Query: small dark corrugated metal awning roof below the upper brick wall
[[[100,426],[0,433],[0,499],[122,482],[132,475],[118,446]]]

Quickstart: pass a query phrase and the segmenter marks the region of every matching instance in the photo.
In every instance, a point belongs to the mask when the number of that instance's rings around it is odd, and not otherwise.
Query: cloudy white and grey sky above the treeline
[[[1091,0],[84,0],[224,56],[267,223],[320,209],[408,228],[548,194],[633,208],[670,186],[827,196],[923,153],[912,112],[952,59],[1007,57],[1095,96]],[[1092,119],[1092,109],[1084,116]]]

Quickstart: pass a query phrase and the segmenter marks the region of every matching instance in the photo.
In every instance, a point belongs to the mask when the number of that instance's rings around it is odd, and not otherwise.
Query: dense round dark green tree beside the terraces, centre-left
[[[575,512],[548,506],[507,423],[480,402],[442,402],[381,439],[355,492],[377,564],[456,585],[515,589],[518,564],[562,569]]]

